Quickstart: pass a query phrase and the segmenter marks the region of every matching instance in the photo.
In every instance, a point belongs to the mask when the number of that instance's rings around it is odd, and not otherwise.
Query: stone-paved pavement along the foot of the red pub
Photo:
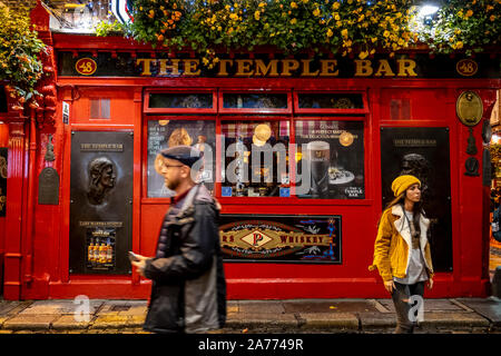
[[[0,299],[0,334],[148,334],[146,300]],[[216,334],[391,334],[391,299],[228,300]],[[416,334],[501,334],[501,299],[425,299]]]

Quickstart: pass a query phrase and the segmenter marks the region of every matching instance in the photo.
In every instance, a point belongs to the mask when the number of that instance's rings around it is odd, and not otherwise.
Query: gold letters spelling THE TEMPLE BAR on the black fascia
[[[216,63],[218,77],[338,77],[337,59],[222,59]],[[138,58],[141,76],[200,76],[199,59]],[[418,77],[413,59],[354,59],[354,77]]]

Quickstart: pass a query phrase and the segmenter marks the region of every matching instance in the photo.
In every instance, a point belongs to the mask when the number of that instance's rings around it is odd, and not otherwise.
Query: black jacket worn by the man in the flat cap
[[[191,188],[180,212],[167,212],[163,258],[146,261],[153,279],[144,328],[155,333],[199,333],[226,322],[226,280],[219,247],[218,207],[203,185]]]

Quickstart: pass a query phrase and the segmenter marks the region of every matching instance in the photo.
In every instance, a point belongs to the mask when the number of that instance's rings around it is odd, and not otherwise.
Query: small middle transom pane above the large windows
[[[227,109],[286,109],[286,93],[225,93],[224,108]]]

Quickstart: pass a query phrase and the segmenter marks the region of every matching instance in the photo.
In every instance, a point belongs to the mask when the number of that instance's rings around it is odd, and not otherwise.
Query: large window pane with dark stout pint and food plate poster
[[[363,121],[296,121],[299,198],[364,199]]]

